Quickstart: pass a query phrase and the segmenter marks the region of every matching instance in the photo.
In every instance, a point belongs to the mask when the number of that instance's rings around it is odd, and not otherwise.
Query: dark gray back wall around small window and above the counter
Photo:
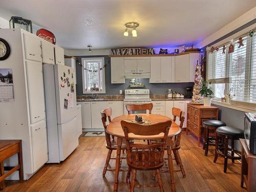
[[[105,68],[105,85],[106,85],[106,93],[107,95],[118,95],[119,90],[130,89],[130,79],[125,79],[124,84],[112,84],[111,83],[111,66],[110,66],[110,57],[105,55],[98,55],[98,56],[76,56],[79,60],[78,62],[81,63],[81,58],[86,57],[104,57],[105,64],[107,65]],[[76,94],[83,95],[82,93],[82,67],[76,63],[76,78],[77,78],[77,85],[76,85]],[[194,82],[188,83],[150,83],[149,79],[140,79],[142,83],[144,83],[143,89],[150,89],[150,94],[167,94],[168,89],[172,89],[173,91],[179,92],[184,94],[184,89],[186,87],[193,87]]]

